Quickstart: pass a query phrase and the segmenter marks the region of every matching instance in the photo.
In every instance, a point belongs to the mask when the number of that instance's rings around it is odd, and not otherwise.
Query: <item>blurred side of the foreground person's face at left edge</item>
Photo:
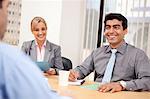
[[[3,38],[4,32],[6,31],[8,5],[9,0],[2,1],[2,8],[0,8],[0,39]]]

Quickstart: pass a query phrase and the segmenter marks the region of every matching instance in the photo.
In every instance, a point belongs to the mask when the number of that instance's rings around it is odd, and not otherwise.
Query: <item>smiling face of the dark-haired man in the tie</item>
[[[127,34],[127,29],[123,30],[122,21],[117,19],[106,21],[104,36],[112,48],[121,45],[125,34]]]

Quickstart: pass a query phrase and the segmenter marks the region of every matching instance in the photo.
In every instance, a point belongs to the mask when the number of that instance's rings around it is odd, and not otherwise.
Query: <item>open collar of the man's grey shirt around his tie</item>
[[[119,53],[121,53],[121,54],[124,54],[126,48],[127,48],[127,43],[124,41],[124,42],[121,44],[121,46],[119,46],[119,47],[116,48],[116,49],[117,49],[117,52],[119,52]],[[112,49],[112,48],[111,48],[110,46],[107,46],[106,49],[105,49],[105,52],[106,52],[106,53],[109,53],[109,52],[111,52],[111,49]]]

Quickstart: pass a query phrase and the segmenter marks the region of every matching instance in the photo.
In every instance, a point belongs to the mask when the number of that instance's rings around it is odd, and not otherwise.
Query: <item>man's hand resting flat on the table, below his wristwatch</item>
[[[101,85],[98,89],[100,92],[119,92],[124,90],[124,88],[121,86],[119,82],[112,82],[112,83],[107,83],[104,85]]]

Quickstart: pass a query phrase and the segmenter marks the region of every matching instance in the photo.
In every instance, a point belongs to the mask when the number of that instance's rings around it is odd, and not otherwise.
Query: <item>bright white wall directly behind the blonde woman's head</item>
[[[22,0],[19,47],[24,41],[34,39],[30,31],[30,22],[35,16],[41,16],[46,20],[48,26],[47,39],[59,44],[61,0]]]

